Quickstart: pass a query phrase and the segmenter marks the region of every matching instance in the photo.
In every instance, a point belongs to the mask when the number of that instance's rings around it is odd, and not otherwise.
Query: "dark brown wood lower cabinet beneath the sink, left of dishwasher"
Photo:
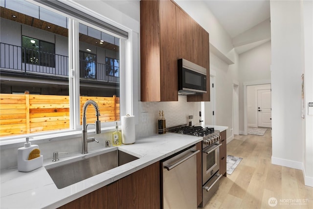
[[[80,197],[60,209],[160,209],[159,162]]]

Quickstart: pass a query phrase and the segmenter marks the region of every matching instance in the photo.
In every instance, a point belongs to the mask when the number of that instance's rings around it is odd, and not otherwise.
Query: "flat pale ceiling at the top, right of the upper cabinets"
[[[270,17],[269,0],[205,0],[231,38]]]

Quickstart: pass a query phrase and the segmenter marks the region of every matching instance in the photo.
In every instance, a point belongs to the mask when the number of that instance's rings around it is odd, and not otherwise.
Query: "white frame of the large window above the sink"
[[[69,61],[69,95],[70,95],[70,126],[69,129],[67,130],[61,130],[61,131],[51,131],[51,132],[43,132],[43,133],[33,133],[33,134],[26,134],[26,135],[17,135],[17,136],[12,136],[12,137],[3,137],[1,138],[0,142],[1,145],[5,144],[10,144],[11,142],[8,141],[9,139],[15,139],[15,142],[20,142],[20,140],[24,140],[25,137],[37,137],[40,136],[41,139],[51,139],[51,137],[54,138],[64,138],[65,136],[70,137],[77,137],[77,131],[80,131],[82,129],[82,126],[80,125],[80,107],[79,107],[79,61],[76,62],[76,60],[79,60],[79,23],[83,23],[85,25],[89,25],[90,27],[93,27],[95,29],[98,29],[100,31],[106,32],[108,34],[113,35],[114,37],[118,37],[120,39],[120,57],[119,57],[119,76],[120,76],[120,116],[126,115],[125,113],[127,112],[128,114],[134,115],[134,112],[137,112],[136,108],[138,105],[138,101],[136,101],[134,105],[134,100],[133,100],[133,58],[132,54],[134,53],[134,49],[132,48],[133,41],[135,39],[132,38],[132,29],[126,28],[122,26],[121,24],[117,24],[115,22],[110,21],[104,16],[97,16],[96,14],[92,14],[94,18],[99,18],[106,20],[106,22],[117,26],[118,28],[127,31],[130,35],[128,39],[125,39],[121,36],[118,36],[117,34],[113,34],[110,31],[105,31],[103,28],[99,28],[96,25],[89,24],[87,22],[84,22],[83,20],[76,20],[75,18],[71,17],[68,14],[64,14],[60,11],[57,11],[53,8],[49,8],[41,3],[38,3],[34,0],[29,0],[30,2],[39,5],[41,7],[44,7],[50,11],[56,12],[58,14],[64,15],[68,19],[68,56],[72,57],[73,60],[72,62]],[[67,2],[68,5],[71,4],[71,2]],[[76,5],[79,5],[78,3],[75,3]],[[70,5],[72,6],[72,5]],[[82,10],[82,12],[88,13],[87,8],[79,8]],[[75,27],[73,27],[75,25]],[[138,35],[138,34],[137,34]],[[135,40],[135,43],[137,43],[137,40]],[[70,50],[72,49],[72,50]],[[126,55],[127,54],[127,55]],[[123,60],[125,59],[125,61]],[[129,66],[126,67],[125,63],[127,63]],[[77,70],[75,70],[77,69]],[[126,72],[128,71],[128,72]],[[132,79],[125,79],[125,76],[131,76]],[[135,80],[138,80],[136,78]],[[125,82],[127,81],[127,82]],[[128,88],[126,88],[128,87]],[[131,93],[131,94],[129,94]],[[75,95],[75,96],[74,96]],[[128,95],[125,97],[125,95]],[[138,97],[138,95],[136,95]],[[129,101],[129,102],[126,102]],[[129,104],[126,106],[126,104]],[[134,109],[134,106],[136,107]],[[137,120],[136,120],[137,121]],[[102,123],[102,130],[111,130],[112,128],[115,127],[115,122],[105,122]],[[117,121],[118,125],[121,125],[121,121]],[[92,128],[91,128],[92,129]],[[62,137],[60,136],[60,133]],[[66,133],[66,134],[62,134]],[[12,143],[15,143],[12,141]]]

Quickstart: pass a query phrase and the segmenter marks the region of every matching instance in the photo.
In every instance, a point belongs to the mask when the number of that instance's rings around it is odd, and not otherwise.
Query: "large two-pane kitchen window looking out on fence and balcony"
[[[81,130],[82,106],[89,99],[98,103],[103,126],[112,126],[124,111],[120,54],[125,49],[120,45],[127,33],[115,28],[114,34],[110,27],[107,31],[107,23],[75,9],[86,19],[61,13],[62,2],[40,2],[60,9],[1,1],[0,97],[5,99],[0,105],[0,140]],[[17,31],[22,33],[20,41]],[[91,108],[87,113],[94,122]]]

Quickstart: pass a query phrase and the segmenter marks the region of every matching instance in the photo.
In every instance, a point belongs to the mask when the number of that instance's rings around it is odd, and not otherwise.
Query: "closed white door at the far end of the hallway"
[[[258,127],[272,127],[270,89],[258,90]]]

